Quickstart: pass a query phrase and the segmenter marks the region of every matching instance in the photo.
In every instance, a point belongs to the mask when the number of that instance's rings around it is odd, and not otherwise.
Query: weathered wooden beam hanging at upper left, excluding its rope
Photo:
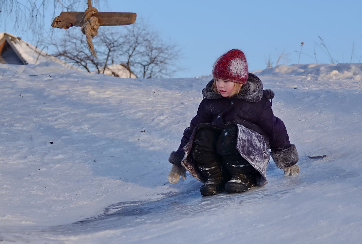
[[[100,26],[132,25],[136,21],[135,13],[98,12],[92,16],[97,17]],[[52,27],[68,29],[72,26],[83,26],[84,12],[61,12],[55,17]]]

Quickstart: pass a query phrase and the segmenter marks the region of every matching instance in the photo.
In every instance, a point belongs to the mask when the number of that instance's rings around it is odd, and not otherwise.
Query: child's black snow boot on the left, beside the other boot
[[[205,184],[200,187],[201,195],[211,196],[224,190],[225,180],[220,165],[217,162],[203,166],[199,165],[199,169],[207,179]]]

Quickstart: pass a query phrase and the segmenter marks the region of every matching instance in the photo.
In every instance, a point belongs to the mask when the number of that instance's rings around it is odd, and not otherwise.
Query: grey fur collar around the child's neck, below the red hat
[[[223,96],[212,91],[212,83],[214,83],[214,79],[207,83],[206,87],[202,90],[202,95],[206,99],[222,98]],[[237,94],[237,99],[257,103],[263,96],[267,99],[273,99],[274,92],[269,89],[263,90],[263,84],[261,83],[259,77],[249,73],[247,83],[242,86],[241,91]]]

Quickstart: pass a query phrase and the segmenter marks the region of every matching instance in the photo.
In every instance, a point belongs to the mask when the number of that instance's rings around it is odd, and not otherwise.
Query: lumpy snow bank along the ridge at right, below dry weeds
[[[261,71],[256,75],[296,75],[307,79],[362,79],[362,64],[292,64],[278,65]]]

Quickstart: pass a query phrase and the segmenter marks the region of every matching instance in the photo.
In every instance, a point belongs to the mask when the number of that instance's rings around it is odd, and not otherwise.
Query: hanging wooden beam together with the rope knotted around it
[[[99,13],[96,8],[92,7],[91,0],[88,0],[88,8],[85,12],[62,12],[55,17],[51,26],[60,29],[81,26],[82,32],[87,36],[88,48],[97,58],[92,38],[98,35],[99,26],[132,25],[135,21],[135,13]]]

